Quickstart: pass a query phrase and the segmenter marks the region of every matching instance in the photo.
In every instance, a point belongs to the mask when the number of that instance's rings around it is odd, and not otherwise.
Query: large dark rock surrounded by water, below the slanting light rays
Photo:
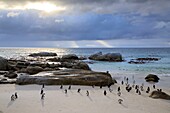
[[[120,53],[107,53],[102,54],[102,52],[98,52],[93,54],[89,57],[91,60],[98,60],[98,61],[113,61],[113,62],[120,62],[122,60],[122,55]]]

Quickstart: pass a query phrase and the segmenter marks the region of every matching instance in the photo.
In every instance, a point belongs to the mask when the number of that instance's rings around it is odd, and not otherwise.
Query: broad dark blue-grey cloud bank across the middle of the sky
[[[3,13],[0,19],[0,36],[4,40],[111,40],[154,38],[155,35],[168,38],[170,35],[169,27],[155,29],[157,21],[164,21],[164,16],[159,15],[86,13],[39,18],[38,12],[22,11],[16,17],[5,17],[8,13]],[[56,19],[63,21],[55,22]]]

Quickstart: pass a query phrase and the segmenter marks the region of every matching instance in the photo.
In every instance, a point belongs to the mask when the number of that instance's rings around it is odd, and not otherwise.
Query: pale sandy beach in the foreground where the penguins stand
[[[169,113],[170,101],[152,99],[149,94],[142,92],[142,95],[130,93],[121,86],[122,95],[117,95],[118,85],[113,85],[109,92],[107,87],[72,86],[68,93],[64,93],[64,86],[45,86],[45,98],[41,100],[40,85],[0,85],[0,113]],[[81,88],[80,93],[77,89]],[[86,91],[90,95],[86,95]],[[104,96],[104,90],[107,95]],[[151,90],[153,90],[151,88]],[[165,91],[165,90],[164,90]],[[10,100],[15,92],[19,98]],[[166,90],[170,94],[169,90]],[[123,99],[119,104],[118,99]]]

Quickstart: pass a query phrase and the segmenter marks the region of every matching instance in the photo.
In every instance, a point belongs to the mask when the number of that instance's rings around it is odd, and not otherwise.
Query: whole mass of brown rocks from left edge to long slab
[[[56,57],[52,53],[33,53],[30,60],[14,60],[0,57],[0,83],[17,84],[75,84],[75,85],[108,85],[114,83],[109,73],[93,72],[83,61],[85,57],[75,54]],[[37,57],[38,56],[38,57]],[[46,56],[55,56],[48,58]],[[45,59],[43,57],[46,57]],[[43,59],[43,61],[42,61]],[[48,63],[51,62],[52,63]],[[2,68],[1,68],[2,67]],[[60,70],[60,68],[66,68]],[[50,76],[39,76],[43,73]],[[76,76],[75,76],[76,75]],[[15,81],[16,80],[16,81]]]

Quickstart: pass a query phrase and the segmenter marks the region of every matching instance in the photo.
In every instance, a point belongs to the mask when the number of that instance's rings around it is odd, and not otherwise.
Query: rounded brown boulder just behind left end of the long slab
[[[28,66],[26,68],[26,72],[28,74],[37,74],[39,72],[43,71],[43,68],[42,67],[39,67],[39,66]]]

